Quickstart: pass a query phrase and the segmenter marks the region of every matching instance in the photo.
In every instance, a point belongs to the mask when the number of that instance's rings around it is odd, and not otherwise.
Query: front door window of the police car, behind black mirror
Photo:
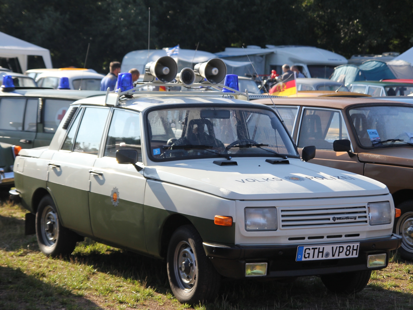
[[[142,162],[139,113],[114,110],[104,156],[115,157],[116,150],[137,150]]]

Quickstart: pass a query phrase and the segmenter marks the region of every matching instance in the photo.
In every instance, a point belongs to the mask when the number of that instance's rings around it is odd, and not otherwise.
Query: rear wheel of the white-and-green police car
[[[52,197],[44,196],[36,212],[36,237],[40,250],[47,256],[70,255],[79,236],[60,224]]]

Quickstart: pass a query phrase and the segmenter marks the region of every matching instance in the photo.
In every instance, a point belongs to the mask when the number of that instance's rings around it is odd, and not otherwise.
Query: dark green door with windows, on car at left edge
[[[33,148],[36,137],[38,98],[0,100],[0,142]]]

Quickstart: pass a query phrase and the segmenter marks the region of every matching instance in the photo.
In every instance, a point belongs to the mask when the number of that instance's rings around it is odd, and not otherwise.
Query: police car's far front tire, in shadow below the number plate
[[[333,293],[351,294],[363,291],[368,280],[370,280],[370,276],[371,270],[361,270],[338,274],[326,274],[320,278],[329,291],[332,291]]]

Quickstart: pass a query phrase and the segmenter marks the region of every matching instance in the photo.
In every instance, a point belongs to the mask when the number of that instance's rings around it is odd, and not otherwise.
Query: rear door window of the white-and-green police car
[[[97,155],[109,109],[87,107],[76,135],[74,152]]]

